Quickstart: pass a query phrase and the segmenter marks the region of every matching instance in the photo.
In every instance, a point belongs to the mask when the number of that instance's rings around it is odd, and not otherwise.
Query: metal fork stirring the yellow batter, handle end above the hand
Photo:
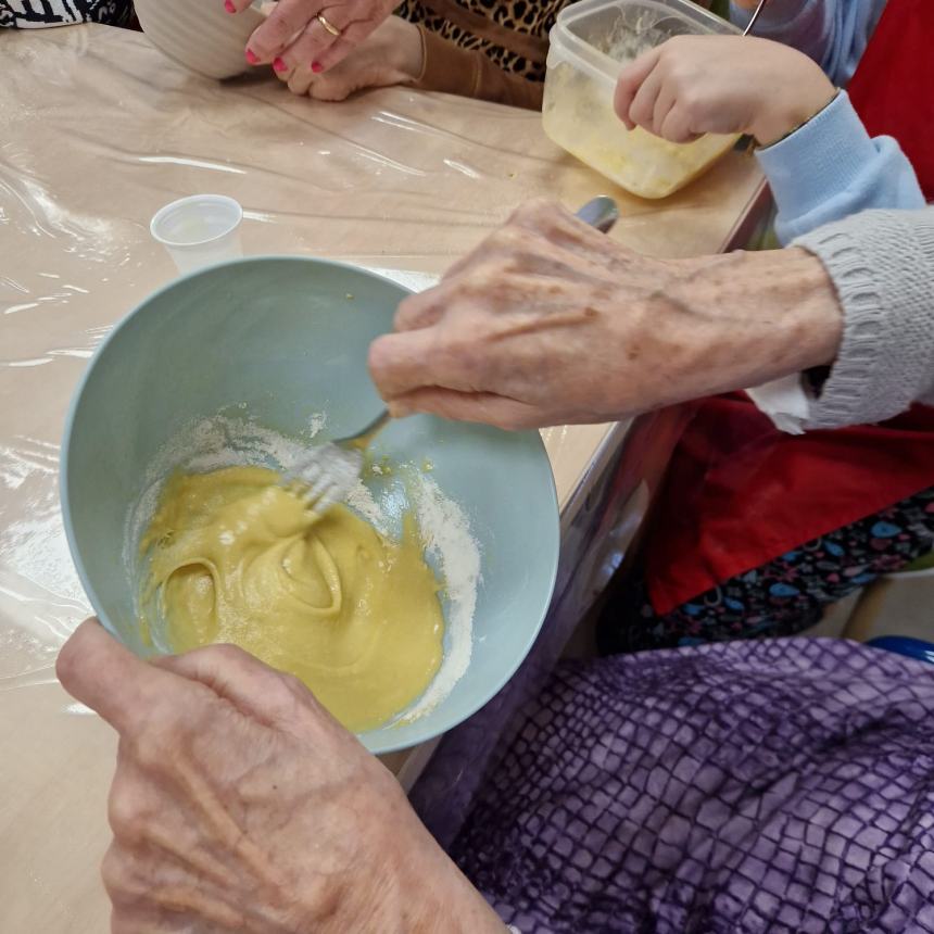
[[[601,195],[584,204],[577,217],[606,234],[619,218],[619,209],[611,198]],[[315,447],[291,466],[287,481],[300,481],[305,488],[302,498],[316,513],[324,513],[345,500],[356,485],[367,447],[389,421],[390,415],[383,409],[356,434]]]

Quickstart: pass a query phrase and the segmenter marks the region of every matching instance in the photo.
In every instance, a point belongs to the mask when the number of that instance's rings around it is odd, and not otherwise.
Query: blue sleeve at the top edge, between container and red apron
[[[886,0],[769,0],[754,35],[804,52],[840,87],[846,87],[866,51]],[[752,12],[730,4],[743,26]]]

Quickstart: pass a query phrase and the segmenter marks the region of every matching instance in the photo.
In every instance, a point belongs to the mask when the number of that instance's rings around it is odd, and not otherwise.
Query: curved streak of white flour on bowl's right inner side
[[[470,532],[470,520],[438,484],[417,475],[409,487],[426,554],[433,558],[447,597],[446,651],[428,690],[405,711],[408,723],[433,710],[464,676],[474,647],[474,610],[480,583],[480,546]]]

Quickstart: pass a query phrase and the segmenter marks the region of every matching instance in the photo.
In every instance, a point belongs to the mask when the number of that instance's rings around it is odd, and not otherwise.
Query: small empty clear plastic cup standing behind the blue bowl
[[[190,273],[243,255],[240,222],[243,209],[225,194],[192,194],[161,207],[149,226],[175,261],[179,273]]]

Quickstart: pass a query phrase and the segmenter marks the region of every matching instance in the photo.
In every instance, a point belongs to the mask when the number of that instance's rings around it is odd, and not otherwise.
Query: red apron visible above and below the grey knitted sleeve
[[[934,0],[888,0],[850,97],[934,188]],[[934,408],[784,434],[744,395],[699,403],[646,542],[656,613],[934,485]]]

